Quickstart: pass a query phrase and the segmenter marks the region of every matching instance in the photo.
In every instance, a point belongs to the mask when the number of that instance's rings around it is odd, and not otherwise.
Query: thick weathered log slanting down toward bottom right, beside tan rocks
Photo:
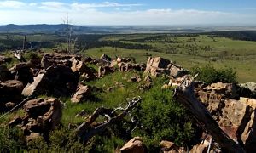
[[[175,89],[174,98],[185,106],[190,113],[195,116],[197,122],[204,125],[207,133],[228,152],[245,152],[241,145],[236,144],[224,131],[218,126],[218,123],[212,118],[206,107],[196,99],[194,93],[194,77],[186,77],[182,84]]]

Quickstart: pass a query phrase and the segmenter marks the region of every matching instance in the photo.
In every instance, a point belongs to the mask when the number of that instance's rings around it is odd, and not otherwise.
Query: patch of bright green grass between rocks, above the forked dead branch
[[[109,74],[102,79],[97,79],[91,82],[84,82],[87,85],[102,88],[102,92],[98,91],[93,94],[95,100],[85,100],[80,104],[73,104],[69,98],[64,98],[62,101],[66,103],[63,111],[62,122],[80,124],[84,122],[84,117],[74,117],[80,111],[84,110],[88,116],[98,107],[115,108],[119,105],[126,105],[126,100],[131,99],[141,94],[136,90],[137,82],[128,82],[128,80],[137,73],[119,73],[119,71]],[[138,74],[139,75],[139,74]],[[124,87],[116,85],[116,83],[123,84]],[[113,90],[107,92],[107,88],[114,87]]]

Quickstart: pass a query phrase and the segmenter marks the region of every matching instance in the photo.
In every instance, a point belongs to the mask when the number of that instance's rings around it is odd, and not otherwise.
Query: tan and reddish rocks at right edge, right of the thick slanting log
[[[254,111],[256,99],[242,94],[242,86],[233,83],[212,83],[195,88],[198,99],[206,106],[212,117],[218,122],[231,139],[244,146],[245,150],[255,152],[256,124]],[[247,96],[247,97],[244,97]]]

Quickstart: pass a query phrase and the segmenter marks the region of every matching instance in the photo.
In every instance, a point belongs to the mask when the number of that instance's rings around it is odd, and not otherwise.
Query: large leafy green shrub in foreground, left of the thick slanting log
[[[163,80],[154,83],[154,88],[143,95],[141,109],[134,114],[140,125],[133,135],[142,136],[150,149],[157,148],[161,140],[187,144],[194,135],[191,117],[172,99],[172,90],[161,89],[162,84]]]

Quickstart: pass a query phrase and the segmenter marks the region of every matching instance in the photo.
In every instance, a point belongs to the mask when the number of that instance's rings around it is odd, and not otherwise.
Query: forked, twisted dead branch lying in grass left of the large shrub
[[[114,122],[123,119],[140,101],[140,97],[133,98],[128,102],[128,105],[126,105],[125,108],[119,107],[115,110],[106,109],[103,107],[97,108],[86,122],[83,122],[75,129],[75,135],[78,136],[84,143],[88,142],[97,133],[102,133]],[[117,111],[121,112],[117,114]],[[95,122],[99,116],[106,116],[106,121],[98,123],[96,127],[92,126],[91,124]]]

